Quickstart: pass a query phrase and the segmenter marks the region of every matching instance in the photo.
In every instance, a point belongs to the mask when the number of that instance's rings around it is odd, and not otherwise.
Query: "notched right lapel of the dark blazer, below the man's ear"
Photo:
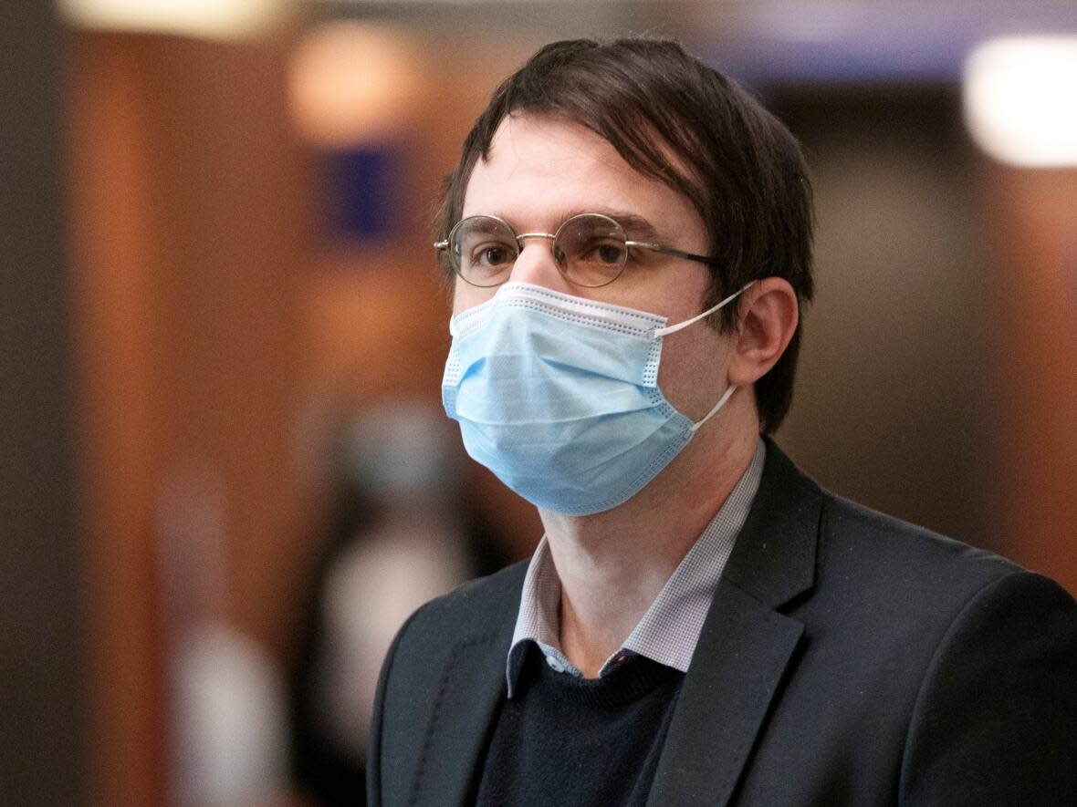
[[[814,583],[822,493],[772,442],[718,582],[647,804],[727,805],[803,633],[778,609]]]

